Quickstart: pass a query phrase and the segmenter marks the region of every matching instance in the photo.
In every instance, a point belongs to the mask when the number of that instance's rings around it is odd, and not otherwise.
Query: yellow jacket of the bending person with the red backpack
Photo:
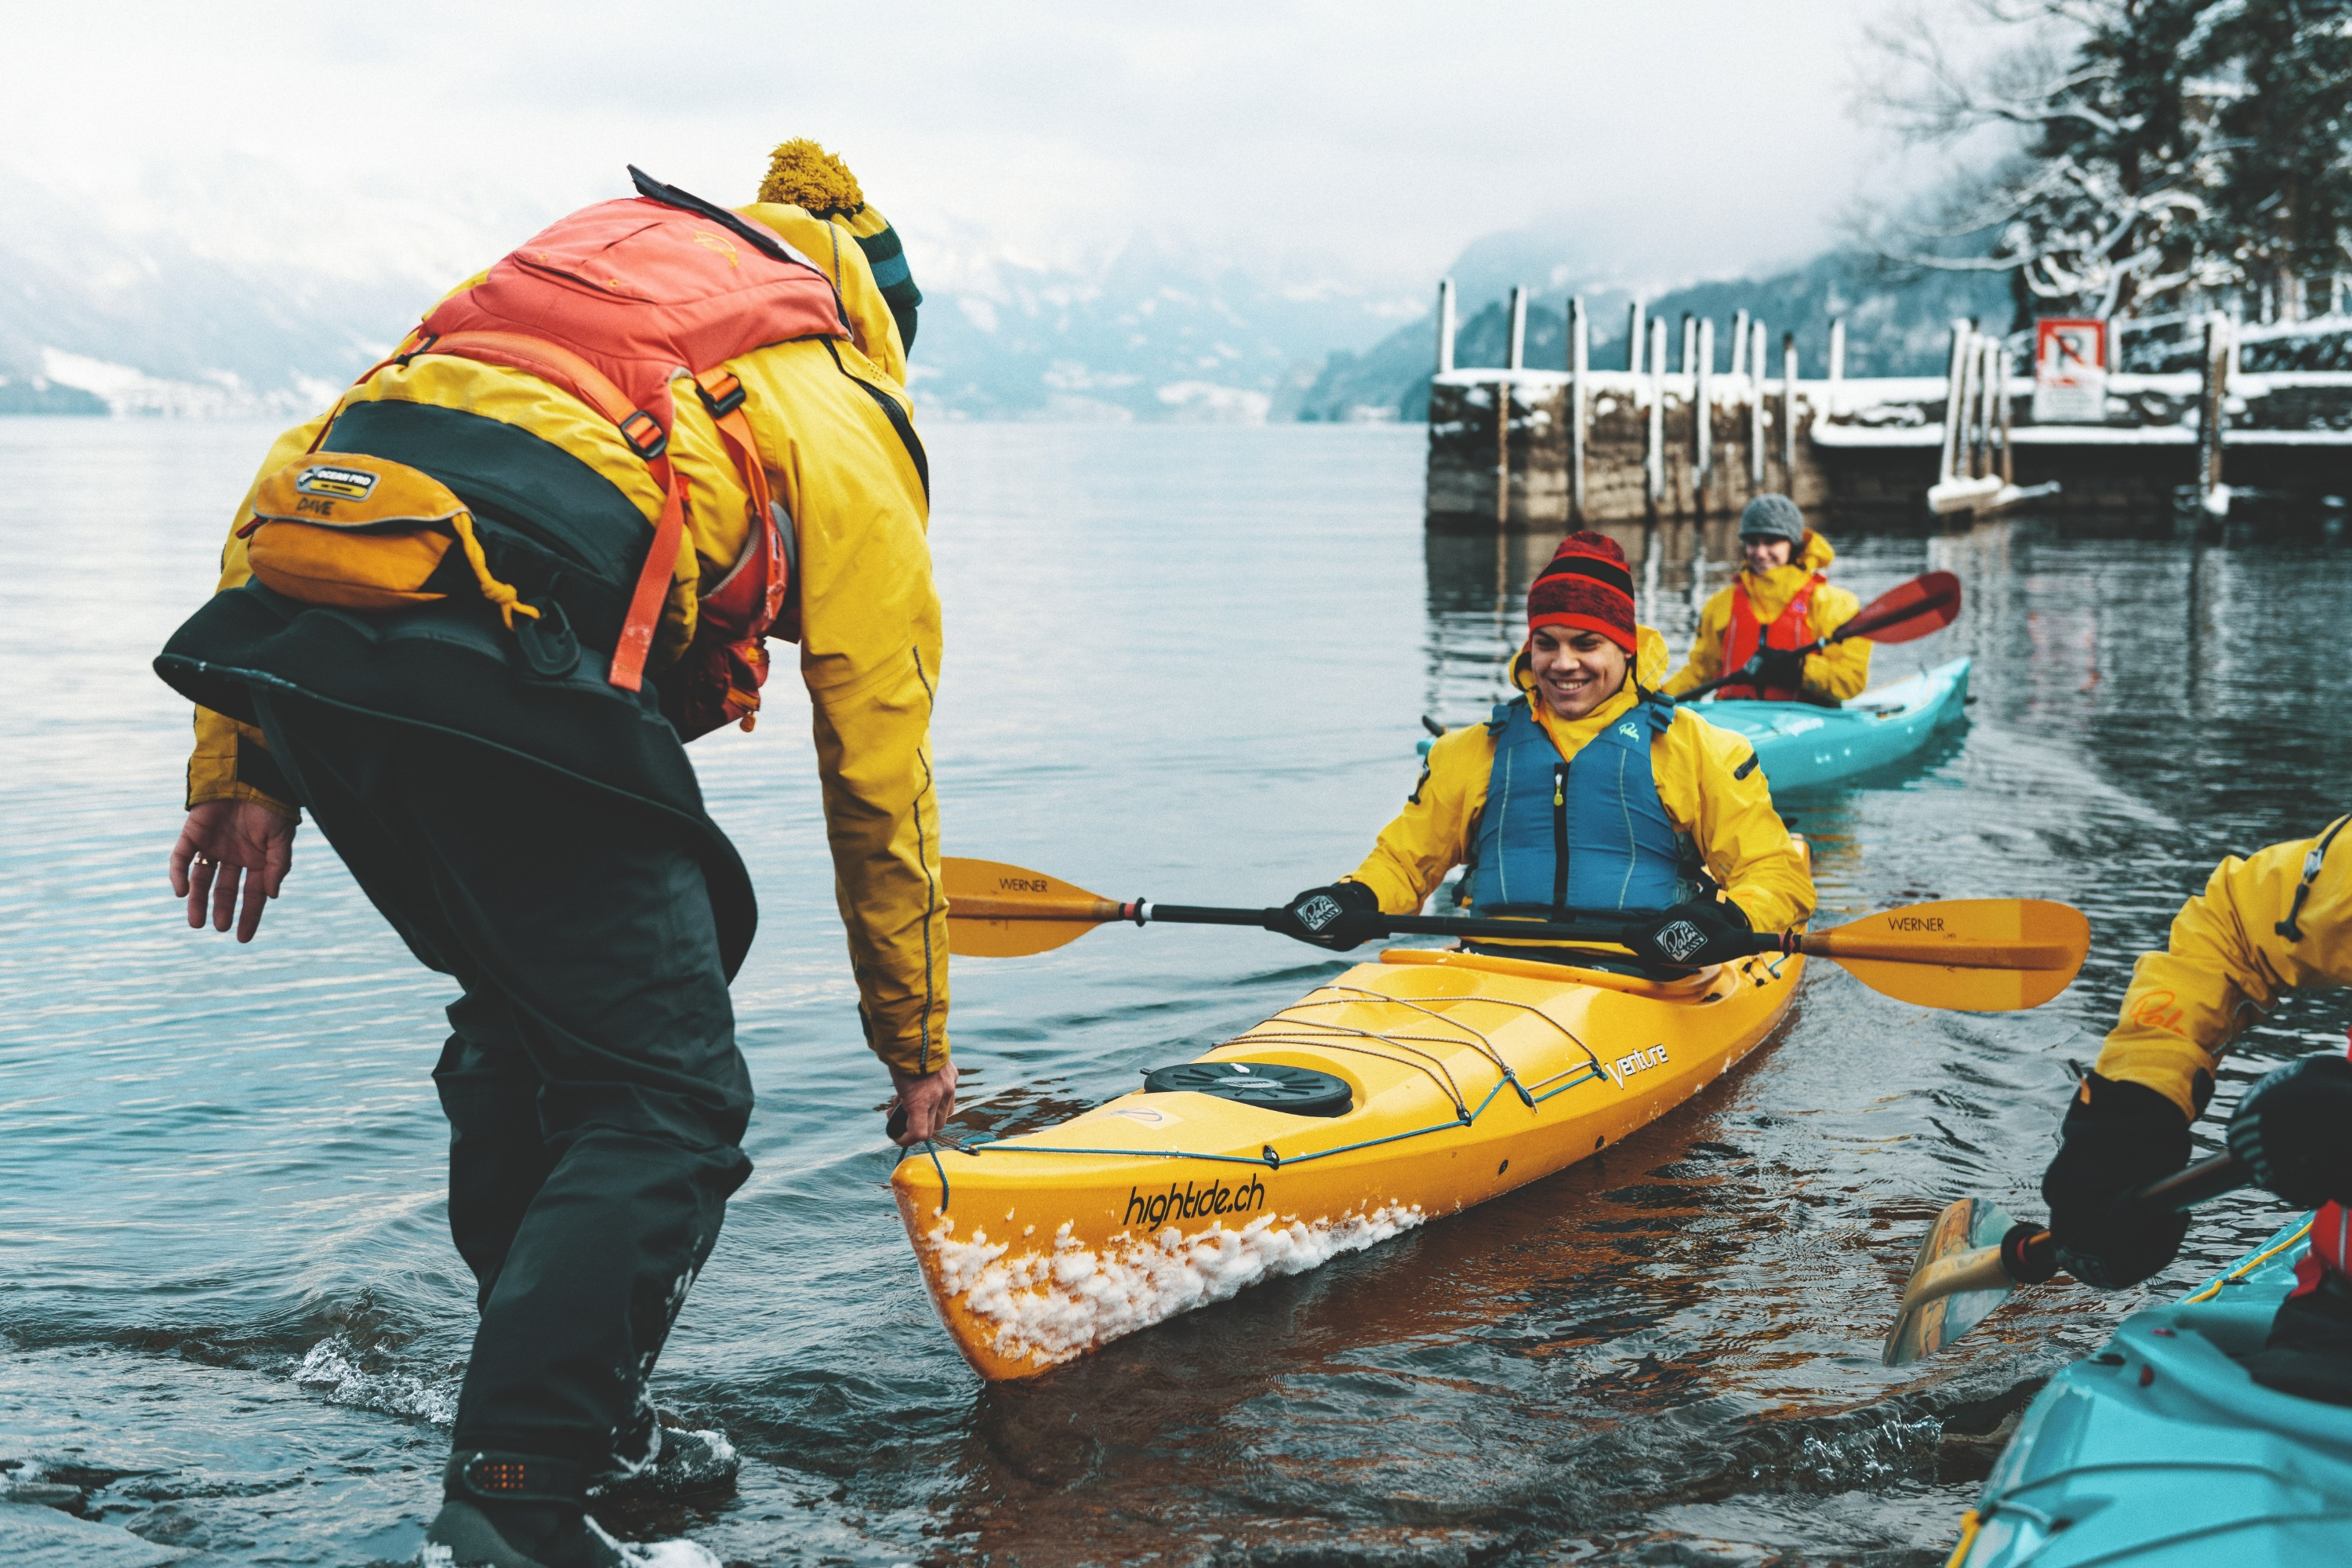
[[[837,268],[854,341],[797,341],[757,348],[727,369],[746,388],[743,414],[767,465],[774,498],[795,529],[800,675],[814,710],[826,835],[835,900],[849,929],[849,961],[875,1053],[903,1072],[948,1060],[948,900],[938,891],[938,802],[931,790],[931,696],[938,686],[941,614],[927,541],[929,503],[915,456],[873,395],[913,414],[884,364],[906,364],[898,329],[866,266],[842,233],[797,207],[748,207],[804,256]],[[840,355],[835,360],[835,355]],[[522,371],[454,357],[388,364],[343,395],[409,400],[482,414],[548,440],[612,480],[654,520],[661,491],[619,430],[569,395]],[[287,430],[270,447],[261,480],[299,458],[332,409]],[[687,534],[670,578],[670,614],[656,637],[654,670],[675,661],[691,625],[696,590],[717,583],[748,536],[748,496],[717,425],[699,397],[677,397],[670,461],[687,477]],[[219,588],[252,574],[235,529],[252,520],[252,491],[230,522]],[[294,806],[238,778],[238,748],[261,733],[195,710],[188,804],[254,799],[285,816]]]

